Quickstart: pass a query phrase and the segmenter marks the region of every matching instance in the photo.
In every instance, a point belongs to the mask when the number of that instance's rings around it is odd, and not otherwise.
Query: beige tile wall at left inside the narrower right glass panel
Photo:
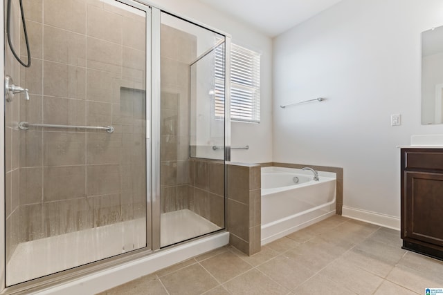
[[[181,50],[193,48],[193,50]],[[197,38],[161,25],[161,212],[189,209],[189,73]]]

